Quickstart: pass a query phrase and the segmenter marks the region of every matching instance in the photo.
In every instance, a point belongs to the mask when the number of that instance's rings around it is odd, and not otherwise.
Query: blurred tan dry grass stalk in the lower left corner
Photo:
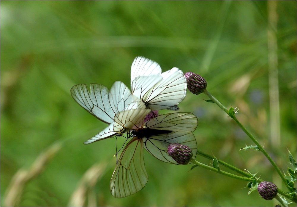
[[[61,143],[55,143],[37,157],[29,170],[18,170],[12,177],[5,193],[4,206],[18,206],[26,183],[42,173],[48,161],[50,161],[60,149]]]

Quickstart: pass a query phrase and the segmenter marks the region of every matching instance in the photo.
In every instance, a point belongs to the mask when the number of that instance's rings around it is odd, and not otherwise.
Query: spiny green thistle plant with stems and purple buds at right
[[[259,194],[261,195],[262,198],[265,200],[272,200],[273,198],[276,198],[279,203],[281,203],[282,206],[288,206],[290,203],[286,200],[290,200],[291,203],[296,203],[296,188],[295,188],[295,182],[296,182],[296,161],[289,152],[289,161],[290,164],[293,166],[293,168],[289,168],[287,173],[288,175],[284,175],[282,171],[279,169],[275,161],[271,158],[271,156],[267,153],[267,151],[260,145],[260,143],[257,141],[257,139],[242,125],[240,121],[236,118],[236,113],[234,111],[233,107],[230,107],[228,110],[222,103],[220,103],[214,96],[212,96],[207,90],[207,81],[200,75],[192,73],[192,72],[187,72],[185,73],[185,77],[187,79],[187,88],[189,89],[190,92],[193,94],[200,94],[204,93],[206,94],[210,100],[207,100],[207,102],[213,102],[217,104],[225,113],[227,113],[230,118],[232,118],[238,126],[248,135],[248,137],[255,143],[255,146],[246,146],[243,149],[255,149],[263,153],[263,155],[268,159],[268,161],[271,163],[271,165],[274,167],[275,171],[279,174],[280,178],[284,182],[285,186],[287,187],[287,192],[281,190],[278,188],[274,183],[268,182],[268,181],[263,181],[260,179],[260,176],[256,176],[256,174],[251,174],[248,171],[242,171],[235,166],[232,166],[228,163],[225,163],[223,161],[218,160],[215,157],[212,157],[206,153],[203,153],[201,151],[197,151],[197,154],[208,158],[212,160],[213,166],[208,166],[203,163],[200,163],[192,158],[190,158],[190,161],[195,164],[195,166],[200,166],[206,169],[209,169],[211,171],[215,171],[217,173],[233,177],[236,179],[241,179],[241,180],[246,180],[249,181],[247,184],[247,187],[250,188],[249,193],[250,194],[252,191],[258,190]],[[185,148],[185,146],[183,146]],[[169,147],[168,147],[169,150]],[[169,153],[169,152],[168,152]],[[235,171],[243,176],[238,176],[232,173],[228,173],[225,171],[222,171],[219,168],[219,165],[225,166],[229,168],[232,171]],[[195,167],[194,166],[194,167]],[[279,197],[278,194],[282,195],[282,197]]]

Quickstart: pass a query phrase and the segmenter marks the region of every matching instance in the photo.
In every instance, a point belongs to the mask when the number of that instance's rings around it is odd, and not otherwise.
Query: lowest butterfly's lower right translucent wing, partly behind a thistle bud
[[[187,145],[191,148],[193,158],[197,153],[197,142],[194,134],[191,131],[172,131],[168,134],[150,135],[143,138],[144,148],[157,159],[167,162],[178,164],[167,153],[167,147],[170,144],[179,143]]]

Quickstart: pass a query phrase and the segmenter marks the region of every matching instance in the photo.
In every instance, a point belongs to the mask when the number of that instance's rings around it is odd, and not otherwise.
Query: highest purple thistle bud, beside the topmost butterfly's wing
[[[200,94],[206,90],[207,81],[202,77],[192,72],[185,73],[187,86],[193,94]]]

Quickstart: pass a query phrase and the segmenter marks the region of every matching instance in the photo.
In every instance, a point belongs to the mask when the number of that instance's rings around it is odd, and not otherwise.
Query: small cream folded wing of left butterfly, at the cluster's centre
[[[114,117],[113,131],[142,128],[143,120],[150,111],[150,109],[131,109],[117,113]]]

